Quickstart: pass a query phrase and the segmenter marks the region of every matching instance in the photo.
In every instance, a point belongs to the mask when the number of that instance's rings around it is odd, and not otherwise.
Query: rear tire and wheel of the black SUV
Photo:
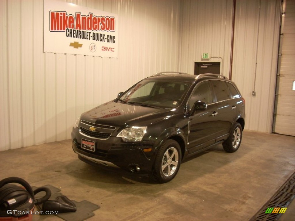
[[[223,149],[228,153],[233,153],[239,149],[242,141],[242,126],[240,123],[235,123],[230,131],[230,136],[222,144]]]

